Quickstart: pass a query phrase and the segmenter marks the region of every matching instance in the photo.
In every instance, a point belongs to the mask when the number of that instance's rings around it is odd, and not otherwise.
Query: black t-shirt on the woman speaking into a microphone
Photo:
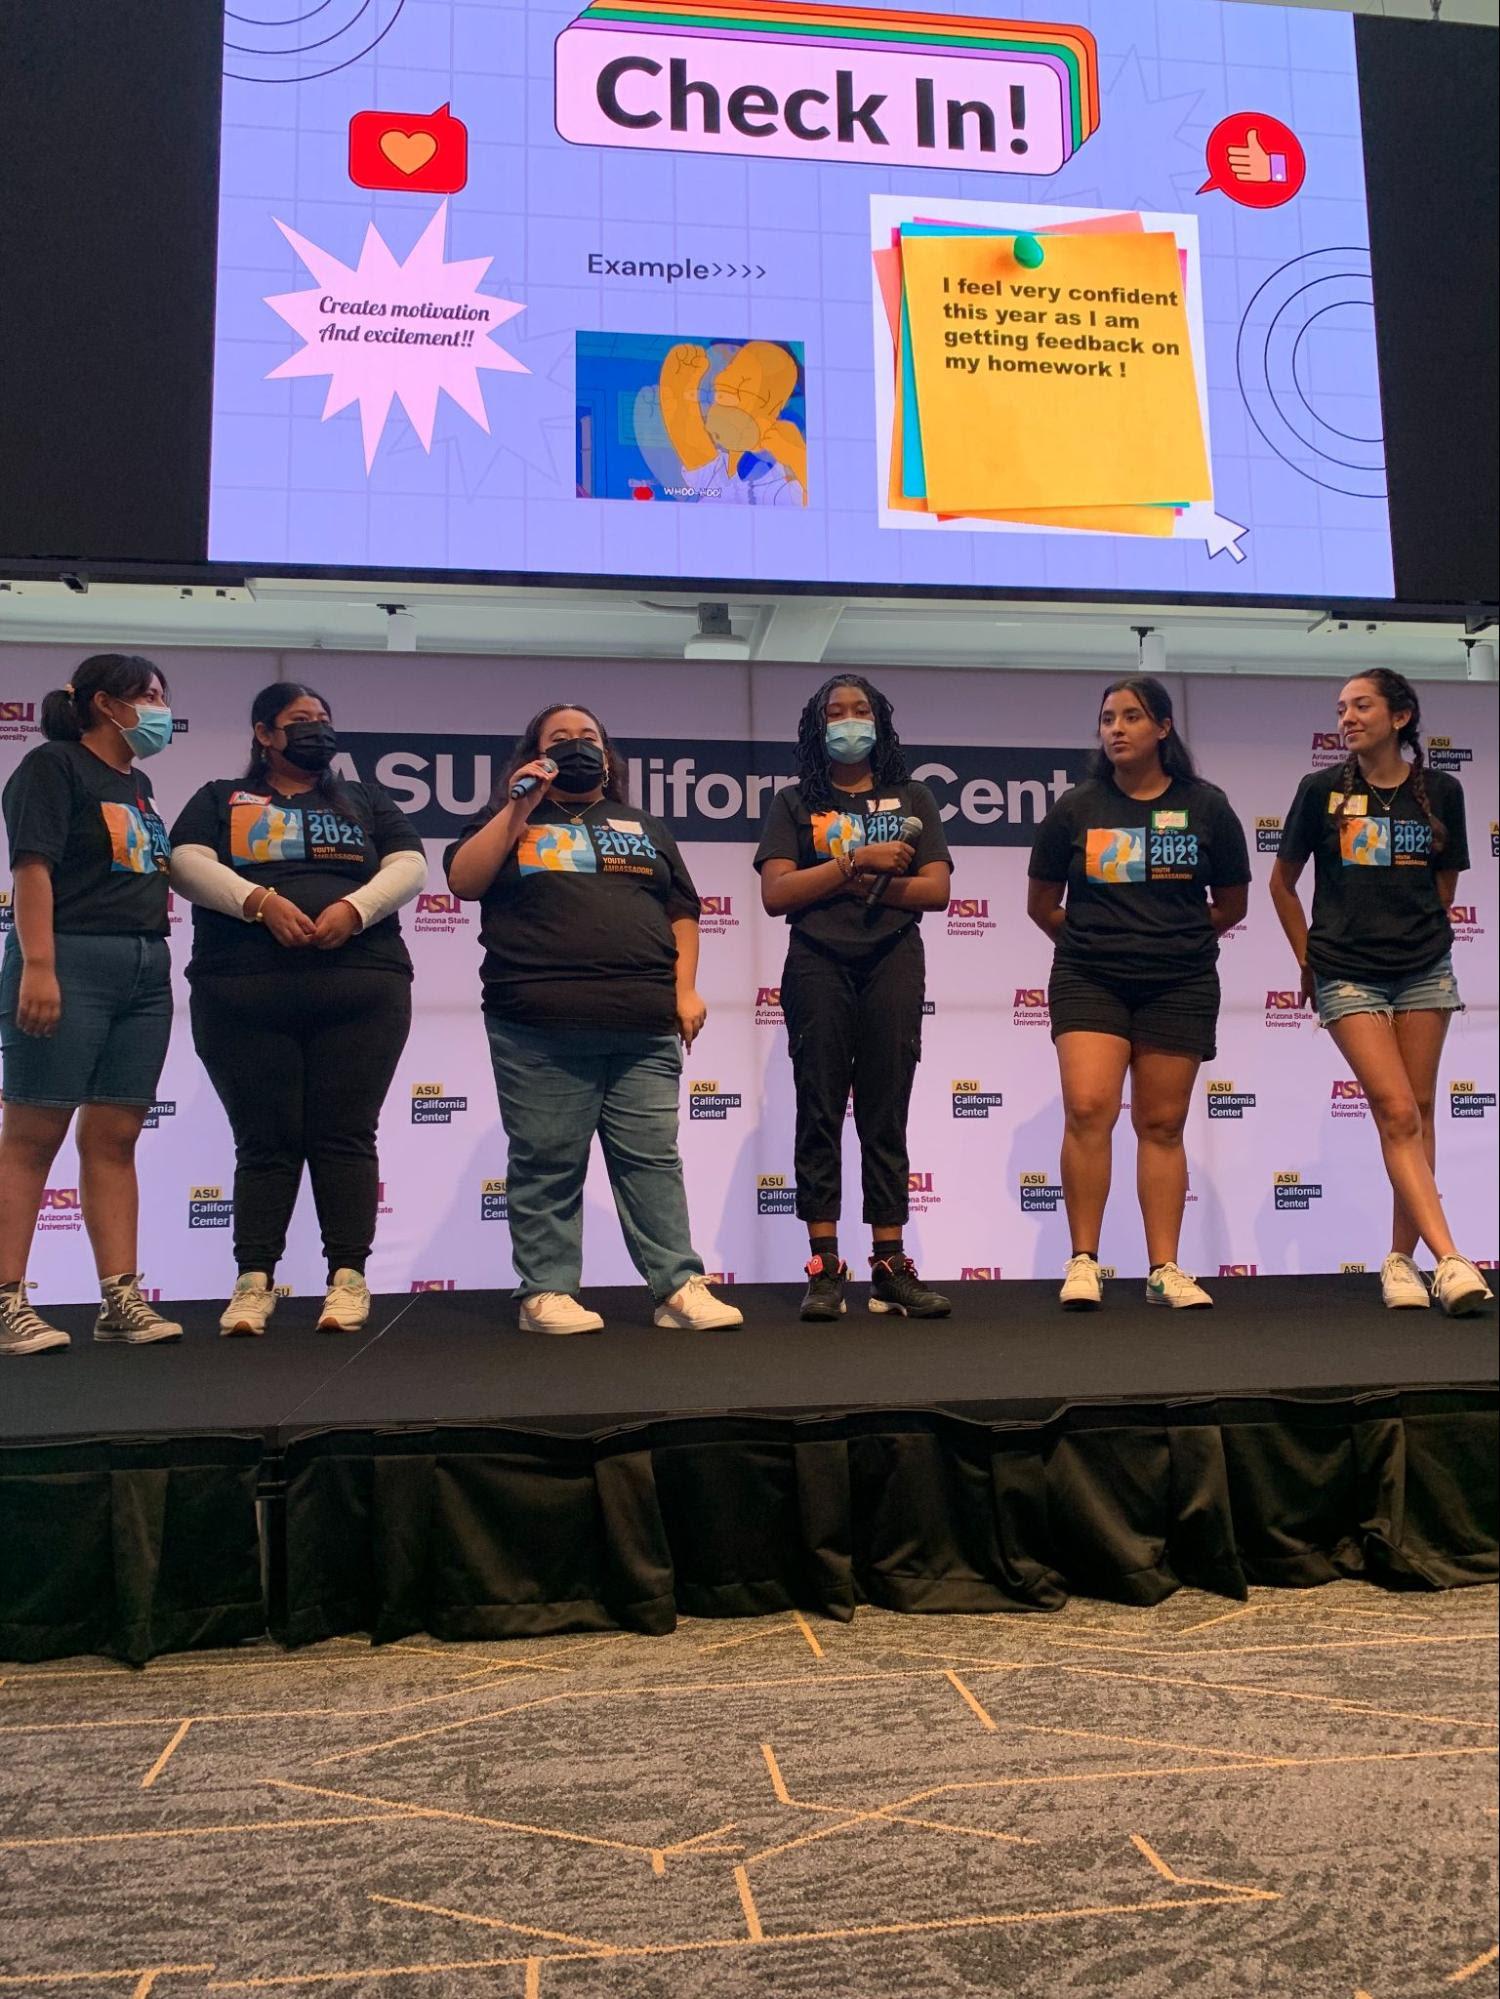
[[[472,820],[444,854],[444,870]],[[676,1029],[672,924],[698,890],[668,828],[610,798],[580,814],[544,800],[480,900],[484,1011],[528,1027]]]

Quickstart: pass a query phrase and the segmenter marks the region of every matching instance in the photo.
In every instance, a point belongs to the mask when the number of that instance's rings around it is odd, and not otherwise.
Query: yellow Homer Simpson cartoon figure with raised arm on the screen
[[[730,506],[806,506],[808,442],[782,416],[798,366],[774,340],[746,340],[710,384],[704,348],[678,344],[662,362],[662,428],[698,500]],[[684,494],[686,498],[686,494]]]

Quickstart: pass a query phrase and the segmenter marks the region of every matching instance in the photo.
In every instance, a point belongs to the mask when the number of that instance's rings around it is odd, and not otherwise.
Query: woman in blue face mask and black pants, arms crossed
[[[854,1093],[870,1311],[940,1319],[948,1299],[906,1253],[906,1111],[922,1053],[920,922],[944,910],[952,860],[938,804],[906,776],[890,702],[858,674],[802,710],[796,784],[776,794],[756,852],[760,900],[790,926],[782,1011],[796,1085],[796,1211],[808,1225],[804,1319],[846,1307],[838,1253],[844,1111]]]

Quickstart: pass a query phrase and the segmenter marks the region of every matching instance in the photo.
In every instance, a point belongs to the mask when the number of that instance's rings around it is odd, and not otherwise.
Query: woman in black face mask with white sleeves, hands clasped
[[[192,916],[192,1043],[234,1129],[238,1279],[224,1333],[264,1333],[312,1175],[328,1295],[320,1331],[364,1325],[380,1189],[376,1125],[412,1025],[396,910],[426,882],[416,830],[378,784],[344,784],[328,702],[276,682],[250,706],[250,768],[172,828]]]

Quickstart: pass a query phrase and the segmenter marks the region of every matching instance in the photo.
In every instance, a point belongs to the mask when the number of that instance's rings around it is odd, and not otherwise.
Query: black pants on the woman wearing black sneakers
[[[844,1111],[854,1089],[864,1219],[906,1221],[906,1111],[922,1057],[926,956],[912,924],[866,958],[834,958],[796,932],[782,970],[782,1011],[796,1087],[796,1211],[836,1221]]]

